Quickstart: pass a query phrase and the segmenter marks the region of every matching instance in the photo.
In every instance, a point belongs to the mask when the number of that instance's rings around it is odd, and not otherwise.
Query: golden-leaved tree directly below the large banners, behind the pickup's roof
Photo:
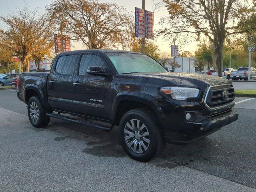
[[[141,39],[134,38],[131,40],[130,50],[135,52],[140,52],[141,50]],[[160,60],[160,50],[159,46],[152,42],[152,40],[145,40],[145,54],[154,58],[155,60]]]

